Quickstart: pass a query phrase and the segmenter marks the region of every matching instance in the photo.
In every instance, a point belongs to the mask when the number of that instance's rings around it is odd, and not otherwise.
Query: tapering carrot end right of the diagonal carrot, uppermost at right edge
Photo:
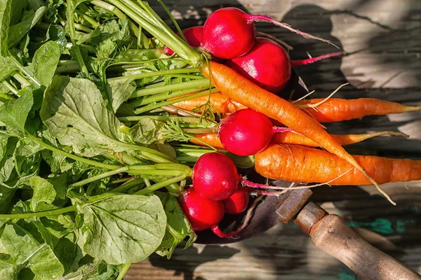
[[[300,100],[294,104],[300,109],[306,110],[321,123],[340,122],[370,115],[387,115],[389,113],[403,113],[421,109],[421,106],[405,106],[397,102],[388,102],[375,98],[330,98],[324,102],[323,100],[325,99]]]

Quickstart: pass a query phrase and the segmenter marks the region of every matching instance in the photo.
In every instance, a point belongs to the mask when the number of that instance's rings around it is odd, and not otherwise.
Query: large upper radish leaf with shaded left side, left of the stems
[[[55,76],[46,89],[41,119],[60,144],[84,156],[122,152],[122,125],[90,80]]]

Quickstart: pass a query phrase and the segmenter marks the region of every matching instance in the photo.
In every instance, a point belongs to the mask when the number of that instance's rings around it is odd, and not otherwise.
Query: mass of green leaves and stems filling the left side
[[[216,123],[168,110],[215,89],[142,30],[112,1],[0,0],[0,279],[122,279],[196,239],[177,195],[214,149],[175,141]]]

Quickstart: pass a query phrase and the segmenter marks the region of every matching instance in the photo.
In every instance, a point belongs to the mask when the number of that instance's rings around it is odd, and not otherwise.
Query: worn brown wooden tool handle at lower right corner
[[[317,248],[343,262],[361,279],[421,279],[401,262],[368,244],[337,215],[322,218],[309,235]]]

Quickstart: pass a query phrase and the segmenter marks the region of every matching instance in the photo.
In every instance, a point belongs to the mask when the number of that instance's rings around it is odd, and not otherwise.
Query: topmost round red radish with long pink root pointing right
[[[215,10],[203,25],[201,48],[215,57],[224,59],[245,55],[255,43],[254,22],[271,22],[305,38],[331,43],[323,38],[295,30],[290,25],[272,20],[265,15],[248,15],[239,8],[220,8]]]

